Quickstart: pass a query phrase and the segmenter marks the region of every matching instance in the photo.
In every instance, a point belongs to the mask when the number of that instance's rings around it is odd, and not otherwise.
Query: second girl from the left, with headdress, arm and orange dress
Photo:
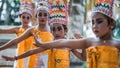
[[[43,42],[51,41],[53,39],[52,34],[49,32],[49,27],[47,25],[49,19],[49,5],[48,2],[37,2],[36,6],[36,19],[37,25],[35,27],[31,27],[27,29],[21,36],[15,38],[8,43],[4,44],[0,47],[0,50],[6,49],[7,47],[13,46],[22,40],[27,39],[28,37],[33,36],[33,34],[38,34]],[[36,48],[32,46],[32,48]],[[48,57],[51,57],[51,50],[47,50],[43,53],[39,54],[43,60],[44,68],[50,68],[52,64],[50,64],[51,59],[47,60]],[[38,62],[38,63],[37,63]],[[39,63],[39,57],[37,55],[32,55],[29,57],[28,68],[37,68],[42,65]],[[52,68],[52,67],[51,67]]]

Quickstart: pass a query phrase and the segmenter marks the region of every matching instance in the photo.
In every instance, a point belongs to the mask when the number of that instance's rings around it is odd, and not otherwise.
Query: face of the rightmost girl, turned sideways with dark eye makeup
[[[92,30],[97,37],[104,37],[111,33],[108,20],[101,13],[94,13],[92,16]]]

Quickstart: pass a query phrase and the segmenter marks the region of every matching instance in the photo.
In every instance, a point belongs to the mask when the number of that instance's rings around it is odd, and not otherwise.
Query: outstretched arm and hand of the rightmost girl
[[[51,42],[42,43],[39,38],[34,35],[34,45],[44,48],[71,48],[71,49],[84,49],[87,46],[86,39],[59,39]]]

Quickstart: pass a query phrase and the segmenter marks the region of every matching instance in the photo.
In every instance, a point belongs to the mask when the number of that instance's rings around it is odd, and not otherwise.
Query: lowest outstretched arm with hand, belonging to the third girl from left
[[[45,51],[45,50],[47,50],[47,49],[38,47],[36,49],[29,50],[21,55],[15,56],[15,57],[2,56],[2,58],[5,59],[6,61],[15,61],[15,60],[19,60],[19,59],[31,56],[33,54],[40,53],[40,52]]]

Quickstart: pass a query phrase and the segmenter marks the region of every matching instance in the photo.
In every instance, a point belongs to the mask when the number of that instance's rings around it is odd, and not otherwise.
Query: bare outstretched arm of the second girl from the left
[[[32,28],[27,29],[21,36],[19,36],[19,37],[15,38],[15,39],[9,41],[8,43],[2,45],[0,47],[0,50],[4,50],[4,49],[7,49],[9,47],[15,46],[19,42],[27,39],[28,37],[30,37],[32,35],[31,30],[32,30]]]

